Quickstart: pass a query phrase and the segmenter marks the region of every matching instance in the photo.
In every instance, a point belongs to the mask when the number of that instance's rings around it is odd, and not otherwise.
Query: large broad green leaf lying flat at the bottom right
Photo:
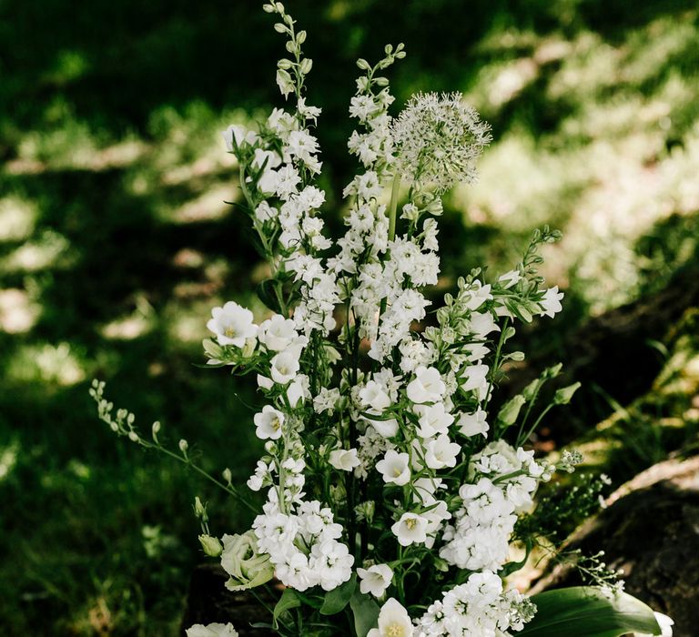
[[[534,595],[537,612],[517,637],[619,637],[661,634],[653,611],[625,592],[575,586]]]

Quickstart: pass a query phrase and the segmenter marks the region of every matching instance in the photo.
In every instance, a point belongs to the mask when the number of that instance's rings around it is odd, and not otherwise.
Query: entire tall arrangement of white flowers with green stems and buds
[[[536,490],[581,459],[568,453],[554,467],[523,447],[551,408],[533,418],[560,366],[491,409],[503,365],[523,358],[507,352],[516,323],[562,308],[562,293],[536,269],[539,248],[558,233],[535,233],[517,267],[491,282],[481,270],[460,278],[427,320],[424,288],[440,272],[441,194],[476,178],[489,126],[460,94],[413,96],[391,117],[380,74],[405,56],[403,46],[387,45],[374,66],[360,59],[349,106],[359,122],[349,152],[360,172],[344,189],[347,229],[333,242],[319,216],[322,162],[311,131],[320,109],[305,97],[306,33],[281,3],[264,9],[287,37],[277,83],[292,108],[275,108],[258,130],[230,126],[223,136],[270,268],[259,295],[272,315],[257,325],[233,301],[213,308],[204,348],[211,367],[257,374],[265,404],[252,420],[265,455],[248,487],[266,501],[251,530],[220,541],[198,501],[202,548],[220,559],[231,590],[272,577],[284,585],[270,618],[282,635],[669,634],[667,622],[661,629],[618,589],[543,593],[540,603],[507,586],[526,561],[512,558],[513,544],[528,555],[535,541],[518,521],[534,509]],[[553,404],[569,402],[575,389],[559,389]],[[186,441],[179,453],[166,450],[158,423],[152,440],[141,437],[133,415],[113,415],[103,392],[96,382],[99,415],[113,430],[193,464]],[[255,510],[229,472],[211,479]],[[585,623],[591,604],[610,617],[597,632]],[[187,634],[238,633],[210,624]]]

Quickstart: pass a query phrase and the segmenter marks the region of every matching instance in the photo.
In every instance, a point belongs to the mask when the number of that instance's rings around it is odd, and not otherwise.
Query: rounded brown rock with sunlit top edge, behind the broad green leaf
[[[623,569],[626,591],[671,615],[675,637],[693,637],[699,626],[699,456],[653,465],[609,501],[567,548],[604,551],[607,564]],[[562,569],[535,591],[578,584],[577,570]]]

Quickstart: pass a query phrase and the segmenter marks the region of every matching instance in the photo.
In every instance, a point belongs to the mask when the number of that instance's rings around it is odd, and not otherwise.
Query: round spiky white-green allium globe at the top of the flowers
[[[390,126],[396,169],[443,193],[476,179],[476,159],[491,142],[490,126],[461,93],[418,93]]]

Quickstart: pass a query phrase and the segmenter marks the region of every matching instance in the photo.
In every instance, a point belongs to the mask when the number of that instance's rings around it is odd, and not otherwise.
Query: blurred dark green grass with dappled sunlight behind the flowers
[[[461,90],[495,137],[481,183],[453,192],[442,219],[447,285],[482,263],[509,269],[533,227],[560,227],[545,273],[566,310],[527,338],[556,357],[586,318],[699,260],[695,3],[291,8],[316,61],[335,232],[354,167],[354,59],[403,41],[399,103]],[[196,441],[212,471],[242,479],[254,465],[252,388],[191,363],[210,307],[236,298],[262,312],[258,259],[223,204],[235,173],[218,131],[279,104],[281,52],[257,2],[0,1],[5,634],[174,634],[200,559],[194,495],[218,532],[248,523],[195,476],[115,440],[86,389],[106,379],[145,428],[162,420],[169,440]]]

